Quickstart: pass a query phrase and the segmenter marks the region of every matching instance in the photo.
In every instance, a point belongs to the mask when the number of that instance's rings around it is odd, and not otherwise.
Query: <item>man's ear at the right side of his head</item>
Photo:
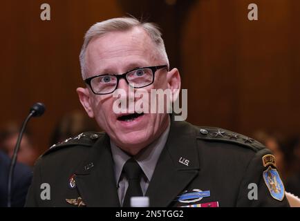
[[[181,87],[181,79],[177,68],[173,68],[167,73],[168,88],[172,91],[171,101],[175,102],[178,99]]]

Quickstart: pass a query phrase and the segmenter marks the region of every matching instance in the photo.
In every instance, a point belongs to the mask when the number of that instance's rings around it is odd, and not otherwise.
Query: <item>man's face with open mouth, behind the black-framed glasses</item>
[[[140,28],[126,32],[110,32],[93,38],[86,50],[86,78],[107,73],[118,75],[133,68],[165,64],[167,61],[158,53],[146,32]],[[129,93],[132,93],[125,79],[120,79],[118,88],[126,91],[127,98]],[[135,88],[134,91],[146,90],[150,93],[151,88],[179,89],[178,70],[156,70],[153,84],[145,88]],[[130,120],[120,117],[120,113],[113,111],[113,103],[117,99],[113,97],[113,93],[95,95],[89,87],[77,88],[77,93],[88,115],[95,117],[99,126],[109,134],[117,146],[132,155],[156,140],[169,124],[167,113],[143,113]],[[135,98],[135,102],[138,99],[140,98]]]

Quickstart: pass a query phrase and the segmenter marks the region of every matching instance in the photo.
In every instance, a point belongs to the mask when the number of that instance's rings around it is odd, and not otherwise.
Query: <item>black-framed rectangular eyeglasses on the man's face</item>
[[[167,65],[135,68],[122,75],[96,75],[84,79],[95,95],[107,95],[118,88],[121,78],[125,79],[132,88],[144,88],[153,84],[156,70],[167,68]]]

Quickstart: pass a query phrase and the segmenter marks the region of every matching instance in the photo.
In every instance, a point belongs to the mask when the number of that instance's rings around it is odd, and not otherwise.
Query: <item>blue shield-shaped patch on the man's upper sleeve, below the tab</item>
[[[265,180],[272,198],[279,201],[283,200],[285,189],[278,171],[269,166],[268,169],[263,171],[263,180]]]

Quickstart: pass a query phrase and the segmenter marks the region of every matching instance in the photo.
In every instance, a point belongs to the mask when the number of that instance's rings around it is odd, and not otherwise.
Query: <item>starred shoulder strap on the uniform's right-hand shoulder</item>
[[[198,127],[197,138],[200,140],[211,140],[215,142],[238,144],[240,146],[251,148],[255,152],[265,148],[263,144],[250,137],[228,131],[223,128]]]

